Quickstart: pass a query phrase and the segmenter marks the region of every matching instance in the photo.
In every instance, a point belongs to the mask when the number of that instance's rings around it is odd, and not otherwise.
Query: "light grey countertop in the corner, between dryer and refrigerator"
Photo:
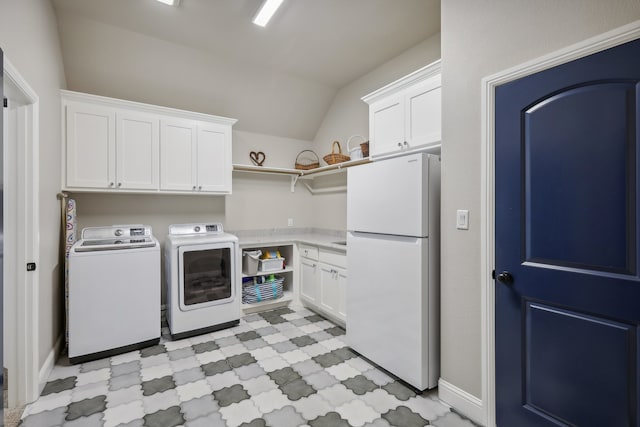
[[[336,242],[344,242],[346,233],[344,231],[324,230],[318,228],[300,229],[269,229],[269,230],[241,230],[230,231],[238,236],[240,246],[261,246],[287,243],[303,243],[312,246],[321,246],[337,251],[346,252],[346,245],[339,245]]]

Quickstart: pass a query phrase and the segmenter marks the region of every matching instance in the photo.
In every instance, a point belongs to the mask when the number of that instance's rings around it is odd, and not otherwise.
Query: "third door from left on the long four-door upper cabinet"
[[[160,189],[196,189],[196,126],[188,121],[161,121]]]

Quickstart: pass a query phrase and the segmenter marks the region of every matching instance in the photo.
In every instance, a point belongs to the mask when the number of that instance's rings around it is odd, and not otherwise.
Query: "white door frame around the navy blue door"
[[[589,38],[548,55],[482,79],[481,89],[481,353],[482,406],[467,405],[473,418],[488,427],[496,425],[495,384],[495,89],[539,71],[640,38],[640,20]]]

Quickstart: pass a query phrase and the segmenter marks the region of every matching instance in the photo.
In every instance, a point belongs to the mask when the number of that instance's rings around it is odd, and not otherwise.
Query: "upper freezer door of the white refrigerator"
[[[430,157],[418,153],[349,168],[347,230],[427,237]]]

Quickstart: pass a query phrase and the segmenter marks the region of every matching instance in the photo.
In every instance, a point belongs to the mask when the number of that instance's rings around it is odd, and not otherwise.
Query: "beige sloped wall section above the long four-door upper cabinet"
[[[306,139],[336,92],[228,53],[211,54],[64,11],[58,19],[68,86],[78,92],[234,117],[238,130]]]

